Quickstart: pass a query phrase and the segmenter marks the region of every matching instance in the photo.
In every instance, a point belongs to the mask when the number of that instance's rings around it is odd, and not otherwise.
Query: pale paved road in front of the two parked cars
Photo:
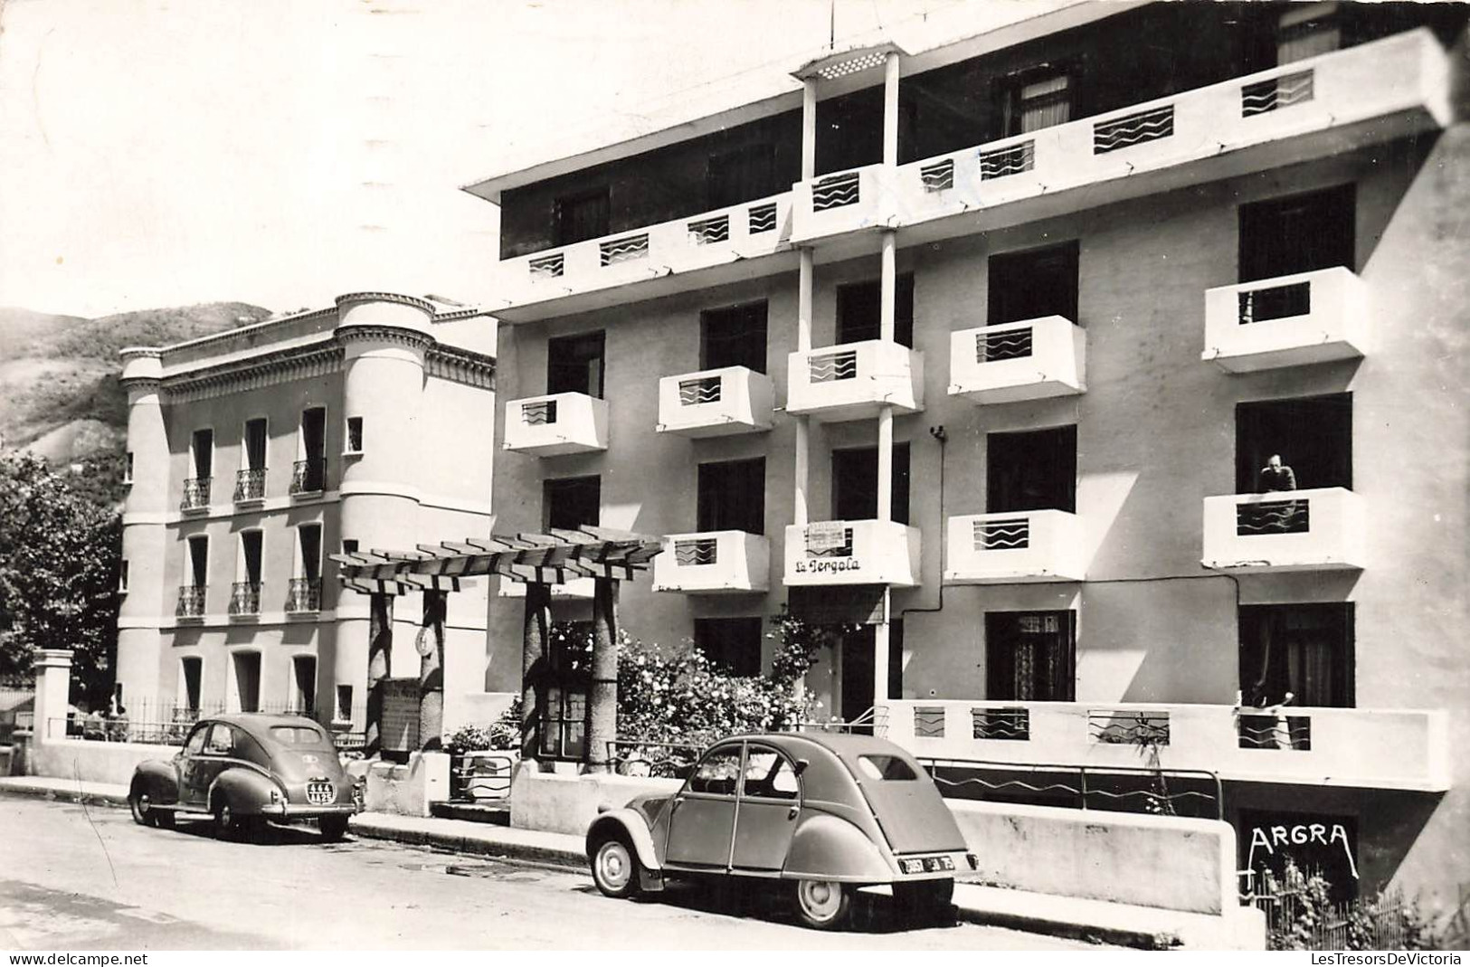
[[[794,926],[756,891],[601,896],[554,867],[310,829],[218,842],[206,827],[135,826],[126,810],[0,797],[0,948],[923,948],[1069,949],[1055,938],[961,924],[900,930],[886,898],[858,926]]]

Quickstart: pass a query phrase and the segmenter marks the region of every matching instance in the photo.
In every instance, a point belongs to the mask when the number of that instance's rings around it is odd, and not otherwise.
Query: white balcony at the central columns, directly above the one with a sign
[[[792,353],[786,369],[786,411],[823,422],[923,409],[923,353],[898,342],[869,339]]]

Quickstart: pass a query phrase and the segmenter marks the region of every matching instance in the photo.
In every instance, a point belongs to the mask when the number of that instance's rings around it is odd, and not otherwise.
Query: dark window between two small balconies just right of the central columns
[[[1078,428],[986,436],[988,513],[1078,508]]]

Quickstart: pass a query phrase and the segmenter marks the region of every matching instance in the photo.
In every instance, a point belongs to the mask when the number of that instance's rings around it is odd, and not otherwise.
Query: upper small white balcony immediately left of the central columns
[[[729,436],[770,429],[770,376],[744,366],[706,369],[659,381],[660,434]]]

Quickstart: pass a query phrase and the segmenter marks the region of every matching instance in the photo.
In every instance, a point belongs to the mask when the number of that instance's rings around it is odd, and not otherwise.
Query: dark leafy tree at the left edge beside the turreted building
[[[0,675],[71,648],[75,698],[112,692],[122,522],[31,454],[0,453]]]

